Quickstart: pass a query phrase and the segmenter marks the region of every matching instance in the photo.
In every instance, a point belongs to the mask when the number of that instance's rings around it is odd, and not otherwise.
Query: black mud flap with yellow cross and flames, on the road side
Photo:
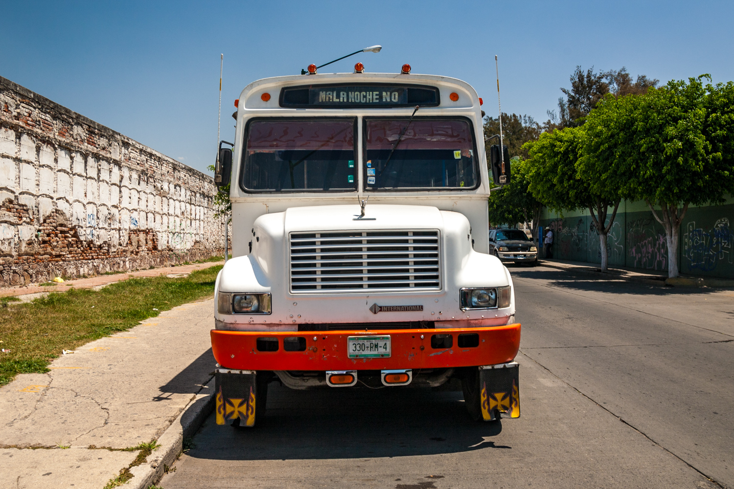
[[[520,417],[519,371],[517,361],[479,367],[479,396],[484,421]]]

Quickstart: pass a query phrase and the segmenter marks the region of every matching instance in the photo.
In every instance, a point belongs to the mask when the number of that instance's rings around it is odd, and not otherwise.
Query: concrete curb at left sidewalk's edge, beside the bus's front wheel
[[[158,438],[159,448],[148,455],[148,462],[130,468],[129,489],[148,489],[156,484],[183,451],[183,439],[193,436],[214,410],[214,377],[210,378],[183,408],[174,422]]]

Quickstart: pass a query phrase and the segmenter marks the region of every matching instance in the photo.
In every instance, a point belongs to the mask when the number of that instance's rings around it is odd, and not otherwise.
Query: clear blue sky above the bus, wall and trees
[[[4,0],[0,75],[196,169],[217,146],[219,54],[225,55],[222,139],[251,81],[333,65],[351,71],[462,78],[497,113],[540,122],[576,65],[622,66],[662,82],[734,79],[732,1],[222,1]]]

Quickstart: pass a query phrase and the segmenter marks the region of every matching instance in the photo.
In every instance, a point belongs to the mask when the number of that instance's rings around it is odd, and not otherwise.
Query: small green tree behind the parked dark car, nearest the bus
[[[529,187],[528,164],[520,156],[512,158],[512,180],[490,194],[489,218],[492,224],[523,222],[531,227],[537,238],[542,204],[533,196]]]

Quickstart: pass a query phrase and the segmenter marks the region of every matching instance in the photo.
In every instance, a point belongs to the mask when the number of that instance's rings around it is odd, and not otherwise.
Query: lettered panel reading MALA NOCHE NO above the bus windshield
[[[404,87],[313,87],[309,105],[395,106],[407,104]]]

